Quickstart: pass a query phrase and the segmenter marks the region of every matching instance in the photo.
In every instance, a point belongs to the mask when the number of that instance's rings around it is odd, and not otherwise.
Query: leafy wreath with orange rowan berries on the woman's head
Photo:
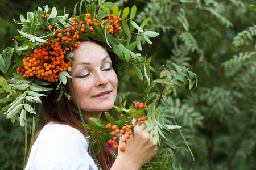
[[[23,41],[22,45],[14,40],[14,48],[6,48],[0,56],[0,69],[6,74],[11,63],[11,56],[15,53],[16,73],[9,76],[6,80],[1,76],[2,92],[8,92],[1,103],[14,101],[1,109],[7,118],[12,122],[20,120],[20,125],[26,124],[26,111],[35,113],[31,103],[41,103],[41,96],[46,92],[58,90],[61,88],[60,97],[65,94],[64,86],[67,83],[69,75],[69,67],[72,63],[72,50],[80,45],[80,40],[93,39],[102,41],[113,48],[118,58],[123,61],[138,60],[139,54],[135,54],[132,50],[137,46],[141,50],[141,42],[139,40],[139,32],[142,32],[146,41],[150,42],[149,37],[158,35],[156,32],[143,31],[144,25],[149,18],[139,27],[132,19],[136,14],[136,7],[133,6],[131,11],[125,8],[122,12],[111,2],[103,2],[96,4],[96,1],[81,1],[74,8],[74,15],[68,18],[69,14],[57,16],[55,7],[44,8],[38,7],[37,11],[27,12],[27,19],[20,15],[20,21],[14,20],[15,23],[22,25],[22,29],[18,30],[20,35],[15,39]],[[81,8],[85,3],[86,14],[82,14]],[[79,5],[79,16],[76,16],[76,9]],[[110,14],[110,8],[113,8]],[[127,18],[130,11],[130,18]],[[127,24],[130,22],[130,27]],[[137,41],[130,42],[132,32],[138,30]],[[90,37],[90,38],[89,38]],[[71,68],[70,68],[71,69]],[[126,70],[126,69],[122,69]],[[123,75],[123,71],[121,74]],[[119,75],[121,76],[121,75]],[[56,83],[59,83],[56,86]],[[43,92],[43,93],[41,93]],[[59,97],[59,99],[60,99]],[[20,113],[21,112],[21,113]],[[17,114],[20,113],[20,114]]]

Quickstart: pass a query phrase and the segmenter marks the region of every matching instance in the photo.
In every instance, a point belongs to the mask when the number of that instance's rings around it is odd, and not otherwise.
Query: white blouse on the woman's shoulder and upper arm
[[[69,125],[49,122],[31,149],[25,170],[97,170],[88,154],[88,141]]]

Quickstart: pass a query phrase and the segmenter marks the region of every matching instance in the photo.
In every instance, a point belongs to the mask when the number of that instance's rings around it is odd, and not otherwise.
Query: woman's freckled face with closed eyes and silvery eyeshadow
[[[72,80],[76,97],[85,117],[100,117],[110,110],[117,97],[117,74],[108,52],[96,43],[81,42],[73,51]],[[76,105],[71,80],[68,93]]]

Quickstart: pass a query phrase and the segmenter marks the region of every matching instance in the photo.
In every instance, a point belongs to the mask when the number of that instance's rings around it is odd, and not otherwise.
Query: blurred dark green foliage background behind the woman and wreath
[[[0,50],[14,46],[20,29],[13,22],[38,6],[72,14],[75,1],[0,1]],[[197,74],[195,90],[177,88],[166,99],[189,146],[179,132],[174,141],[178,162],[186,169],[256,169],[256,3],[253,0],[116,1],[119,8],[137,6],[137,22],[151,17],[145,31],[160,35],[142,54],[152,56],[159,77],[162,65],[176,63]],[[61,11],[62,10],[62,11]],[[4,76],[4,75],[3,75]],[[119,86],[119,99],[140,98],[142,85],[131,70]],[[159,87],[160,88],[160,87]],[[118,102],[118,101],[117,101]],[[22,169],[24,130],[0,114],[0,169]]]

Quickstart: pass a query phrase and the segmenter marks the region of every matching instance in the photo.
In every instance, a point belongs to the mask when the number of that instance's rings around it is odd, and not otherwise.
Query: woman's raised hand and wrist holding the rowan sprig
[[[125,138],[125,135],[122,138]],[[125,151],[121,152],[120,147],[124,147]],[[150,142],[150,133],[147,132],[144,122],[134,127],[134,135],[131,135],[126,143],[120,138],[119,148],[117,159],[111,169],[139,169],[157,151],[157,146]]]

